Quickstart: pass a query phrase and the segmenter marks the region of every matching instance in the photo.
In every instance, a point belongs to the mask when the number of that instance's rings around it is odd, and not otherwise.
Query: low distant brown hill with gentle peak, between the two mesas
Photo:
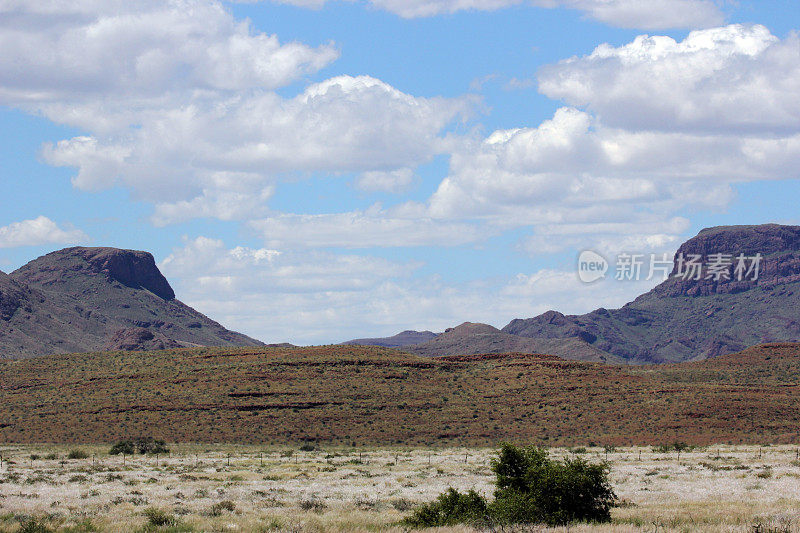
[[[464,322],[449,328],[428,342],[405,346],[404,351],[416,355],[475,355],[496,353],[543,354],[558,351],[565,359],[623,363],[622,358],[594,348],[580,338],[527,338],[504,333],[488,324]]]

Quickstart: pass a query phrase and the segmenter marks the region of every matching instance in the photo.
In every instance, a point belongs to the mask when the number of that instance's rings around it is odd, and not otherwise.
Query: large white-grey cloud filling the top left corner
[[[280,44],[211,0],[0,3],[0,103],[274,89],[338,57]]]

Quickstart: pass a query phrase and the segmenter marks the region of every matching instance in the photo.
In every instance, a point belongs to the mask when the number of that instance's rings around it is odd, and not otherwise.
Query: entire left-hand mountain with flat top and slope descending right
[[[175,298],[147,252],[67,248],[0,275],[0,357],[255,346]]]

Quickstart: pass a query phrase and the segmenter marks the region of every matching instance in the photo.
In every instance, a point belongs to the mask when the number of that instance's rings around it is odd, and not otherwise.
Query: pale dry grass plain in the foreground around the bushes
[[[89,531],[89,520],[98,531],[145,531],[151,507],[176,520],[171,529],[152,531],[401,531],[396,524],[411,506],[450,486],[490,496],[493,480],[493,451],[485,448],[289,455],[275,448],[173,446],[169,457],[123,459],[108,456],[106,447],[87,446],[90,458],[65,459],[73,448],[2,448],[0,531],[18,531],[25,517],[53,530]],[[751,532],[757,524],[765,526],[759,531],[796,531],[796,453],[720,446],[679,459],[651,448],[617,449],[607,456],[623,502],[614,522],[569,531]],[[587,456],[601,461],[606,453],[592,448]]]

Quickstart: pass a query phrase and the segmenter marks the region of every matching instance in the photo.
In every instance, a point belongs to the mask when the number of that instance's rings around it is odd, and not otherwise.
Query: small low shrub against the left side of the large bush
[[[417,508],[405,519],[410,527],[444,527],[476,524],[486,518],[486,500],[474,490],[461,494],[450,488],[431,502]]]

